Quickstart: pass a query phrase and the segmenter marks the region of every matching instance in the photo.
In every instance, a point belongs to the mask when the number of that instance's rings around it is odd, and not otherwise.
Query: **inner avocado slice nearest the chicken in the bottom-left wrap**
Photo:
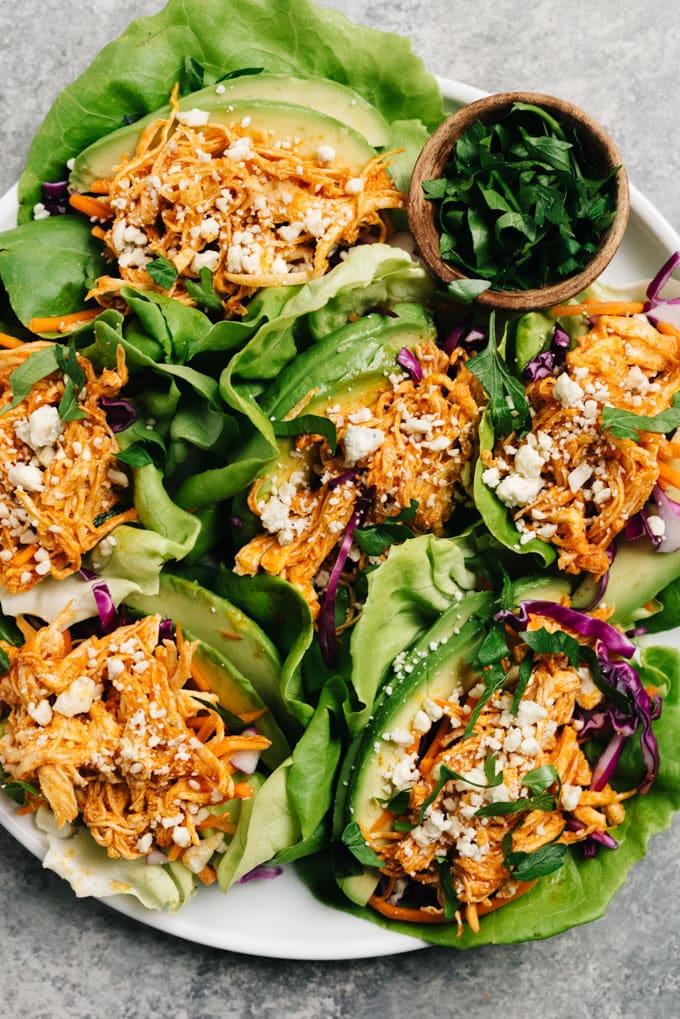
[[[188,640],[195,639],[189,630],[185,631],[185,636]],[[253,725],[262,736],[271,741],[271,746],[262,751],[261,757],[273,771],[289,756],[291,747],[253,684],[204,641],[196,649],[194,660],[211,691],[217,694],[219,703],[232,714],[263,711]]]

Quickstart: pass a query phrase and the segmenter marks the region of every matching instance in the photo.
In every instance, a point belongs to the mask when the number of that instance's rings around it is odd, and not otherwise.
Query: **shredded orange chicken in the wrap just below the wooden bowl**
[[[567,573],[607,573],[607,550],[659,478],[662,435],[603,432],[605,406],[653,416],[680,388],[680,341],[644,316],[603,315],[567,355],[566,371],[527,386],[531,431],[482,453],[484,481],[513,513],[521,541],[559,548]]]

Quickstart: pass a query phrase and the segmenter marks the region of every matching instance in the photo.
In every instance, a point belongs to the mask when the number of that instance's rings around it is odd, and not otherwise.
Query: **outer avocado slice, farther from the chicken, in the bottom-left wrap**
[[[241,609],[195,581],[171,574],[161,574],[158,594],[130,594],[125,603],[144,614],[160,612],[178,623],[188,635],[209,644],[233,666],[234,675],[250,681],[283,732],[297,735],[297,723],[279,689],[278,652],[264,631]]]

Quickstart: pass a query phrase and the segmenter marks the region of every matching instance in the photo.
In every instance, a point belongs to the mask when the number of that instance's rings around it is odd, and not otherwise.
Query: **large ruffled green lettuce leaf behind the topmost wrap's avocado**
[[[243,67],[319,74],[349,85],[387,121],[442,118],[434,78],[409,40],[353,24],[309,0],[203,0],[200,16],[170,0],[106,46],[56,100],[38,130],[19,182],[20,217],[41,200],[44,180],[63,177],[68,159],[123,123],[167,102],[187,61],[216,81]]]

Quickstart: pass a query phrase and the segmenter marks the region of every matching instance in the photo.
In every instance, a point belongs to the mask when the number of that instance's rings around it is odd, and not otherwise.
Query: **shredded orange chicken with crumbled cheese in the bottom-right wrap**
[[[522,653],[518,649],[517,657]],[[516,672],[517,663],[515,676]],[[512,677],[510,672],[511,688]],[[437,860],[446,859],[460,904],[459,927],[465,921],[478,930],[479,916],[524,894],[534,883],[520,881],[509,872],[505,858],[510,850],[535,853],[548,844],[571,845],[593,833],[606,833],[621,823],[625,816],[622,801],[635,792],[616,792],[610,785],[598,792],[588,788],[591,769],[579,743],[580,723],[573,715],[577,705],[592,708],[601,695],[564,656],[536,656],[517,712],[513,712],[512,691],[500,691],[482,708],[473,734],[464,738],[482,690],[477,684],[460,698],[455,693],[448,700],[423,705],[435,720],[425,738],[424,751],[420,750],[422,725],[414,726],[413,742],[404,747],[412,769],[408,809],[399,815],[386,809],[370,830],[362,829],[383,860],[387,877],[385,888],[372,897],[371,904],[393,918],[444,921]],[[384,738],[405,742],[400,733]],[[484,763],[490,755],[495,756],[495,769],[503,770],[503,783],[494,788],[486,788]],[[440,785],[442,765],[469,781]],[[559,783],[552,787],[555,809],[476,816],[477,810],[487,805],[530,797],[529,790],[523,788],[523,777],[542,765],[553,765],[559,776]],[[385,777],[390,780],[391,775],[387,768]],[[433,796],[437,785],[439,791]],[[421,817],[421,808],[428,800]],[[401,830],[394,827],[397,820],[402,821]],[[409,882],[429,890],[433,905],[415,909],[396,905]]]

